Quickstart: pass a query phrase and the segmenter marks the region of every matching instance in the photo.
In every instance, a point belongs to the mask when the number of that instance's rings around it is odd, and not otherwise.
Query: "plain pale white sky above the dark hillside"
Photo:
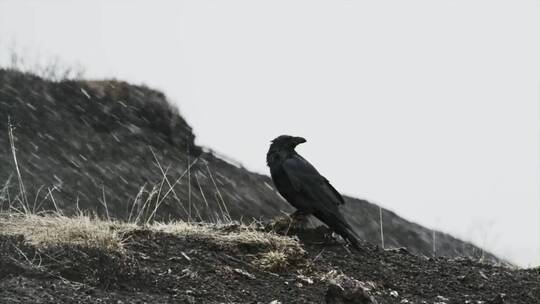
[[[304,136],[342,192],[540,264],[539,1],[0,0],[13,41],[163,90],[254,171]]]

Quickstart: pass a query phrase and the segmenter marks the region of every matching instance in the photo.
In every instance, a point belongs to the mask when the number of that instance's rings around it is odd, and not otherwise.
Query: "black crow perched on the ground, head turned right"
[[[339,212],[345,201],[313,165],[300,156],[294,148],[306,140],[302,137],[281,135],[270,145],[266,163],[279,193],[297,211],[293,218],[314,215],[332,230],[359,247],[360,240],[352,227]]]

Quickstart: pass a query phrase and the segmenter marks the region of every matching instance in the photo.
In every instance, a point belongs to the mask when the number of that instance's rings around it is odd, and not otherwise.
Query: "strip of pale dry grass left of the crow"
[[[74,245],[125,252],[125,235],[136,230],[193,237],[223,248],[256,248],[259,253],[254,256],[253,264],[269,271],[286,269],[304,256],[304,250],[296,239],[260,231],[254,225],[176,221],[141,226],[82,214],[75,217],[60,214],[0,214],[0,234],[22,235],[29,244],[41,249]]]

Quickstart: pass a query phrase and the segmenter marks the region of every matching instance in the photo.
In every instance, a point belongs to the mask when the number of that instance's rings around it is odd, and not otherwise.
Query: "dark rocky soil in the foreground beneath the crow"
[[[325,228],[205,229],[132,228],[121,250],[0,233],[0,303],[540,303],[537,269],[356,250]]]

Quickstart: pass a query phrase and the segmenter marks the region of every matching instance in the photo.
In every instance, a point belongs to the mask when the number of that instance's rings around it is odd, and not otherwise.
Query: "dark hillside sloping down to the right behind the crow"
[[[26,195],[21,195],[9,126]],[[91,210],[126,220],[267,220],[292,208],[268,176],[204,152],[165,96],[120,81],[51,82],[0,69],[0,210]],[[216,130],[218,131],[218,130]],[[261,155],[264,159],[264,155]],[[166,178],[164,178],[166,177]],[[172,186],[172,187],[171,187]],[[347,219],[380,243],[379,208],[347,197]],[[433,255],[433,231],[383,210],[385,244]],[[437,256],[493,255],[436,232]]]

